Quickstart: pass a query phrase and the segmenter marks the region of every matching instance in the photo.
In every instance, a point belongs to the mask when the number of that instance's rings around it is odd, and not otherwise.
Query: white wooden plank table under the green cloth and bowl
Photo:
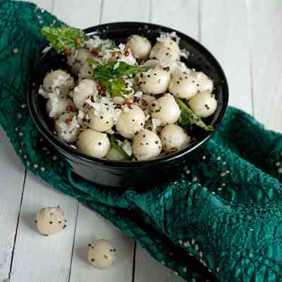
[[[75,27],[134,20],[185,32],[219,59],[230,86],[230,104],[267,128],[282,130],[281,0],[36,2]],[[183,281],[101,216],[26,172],[3,130],[0,179],[0,282]],[[37,210],[48,205],[65,209],[68,227],[46,238],[33,222]],[[118,248],[118,262],[108,271],[86,261],[87,244],[97,238]]]

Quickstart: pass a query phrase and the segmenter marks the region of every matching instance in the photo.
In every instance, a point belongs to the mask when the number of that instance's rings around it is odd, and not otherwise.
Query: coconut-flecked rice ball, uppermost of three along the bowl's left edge
[[[43,80],[43,89],[46,92],[55,92],[56,94],[66,95],[73,87],[74,80],[66,71],[56,70],[45,75]]]

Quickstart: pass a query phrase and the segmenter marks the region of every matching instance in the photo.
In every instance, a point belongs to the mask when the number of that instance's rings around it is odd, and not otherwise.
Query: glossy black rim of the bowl
[[[186,154],[194,151],[197,149],[197,147],[200,147],[204,144],[204,142],[207,142],[212,135],[214,135],[215,130],[219,127],[221,124],[221,121],[223,120],[223,117],[226,114],[227,106],[228,106],[228,98],[229,98],[229,91],[228,91],[228,82],[226,79],[226,75],[223,71],[223,68],[221,67],[221,64],[219,61],[216,60],[214,55],[205,48],[200,42],[198,42],[196,39],[193,39],[192,37],[185,35],[183,32],[179,32],[178,30],[174,30],[171,27],[166,27],[164,25],[157,25],[153,23],[146,23],[146,22],[113,22],[113,23],[104,23],[102,25],[94,25],[92,27],[87,27],[84,29],[85,33],[87,35],[93,35],[97,30],[102,30],[105,28],[106,30],[109,30],[111,26],[120,25],[121,27],[125,27],[126,25],[135,25],[136,27],[152,27],[155,30],[164,30],[165,32],[176,32],[176,35],[180,37],[180,39],[185,39],[188,42],[192,42],[192,45],[197,49],[200,50],[204,56],[208,57],[210,60],[214,62],[214,66],[216,68],[216,71],[219,73],[219,76],[223,80],[223,104],[221,111],[219,113],[218,118],[216,118],[216,121],[214,121],[214,130],[213,131],[207,131],[204,133],[204,137],[202,140],[195,142],[191,147],[187,147],[185,149],[181,149],[178,152],[175,152],[173,154],[168,154],[166,156],[157,157],[154,159],[148,159],[148,160],[140,160],[140,161],[114,161],[114,160],[107,160],[107,159],[99,159],[96,157],[89,157],[85,154],[80,154],[77,150],[73,149],[69,145],[66,145],[64,142],[59,140],[56,136],[54,136],[50,130],[47,130],[44,125],[42,125],[39,116],[37,116],[37,111],[35,110],[35,99],[32,97],[33,95],[33,78],[36,75],[37,68],[41,65],[42,61],[44,60],[44,56],[46,56],[47,53],[50,51],[54,51],[54,49],[50,49],[45,53],[43,56],[40,57],[39,61],[35,64],[35,67],[33,68],[32,75],[30,77],[30,80],[27,85],[27,105],[30,110],[30,116],[32,117],[32,120],[34,121],[35,125],[37,126],[38,130],[44,137],[53,145],[56,147],[56,149],[59,150],[62,154],[64,154],[66,157],[70,157],[70,155],[76,160],[76,161],[82,161],[87,162],[89,164],[99,164],[99,165],[106,165],[110,167],[116,167],[116,168],[142,168],[144,166],[152,166],[154,164],[164,164],[168,161],[173,161],[175,159],[179,159]]]

